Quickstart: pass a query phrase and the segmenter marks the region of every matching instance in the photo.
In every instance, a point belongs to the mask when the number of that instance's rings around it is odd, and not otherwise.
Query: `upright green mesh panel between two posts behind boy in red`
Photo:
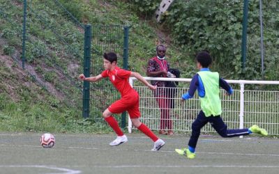
[[[89,75],[96,76],[103,72],[104,52],[115,52],[118,56],[118,66],[127,69],[128,26],[94,25],[91,29],[92,34],[89,35],[92,35],[92,61],[86,61],[84,64],[84,73],[90,68],[89,63],[91,64],[90,74],[86,74],[86,77]],[[91,84],[84,82],[84,118],[90,117],[96,121],[103,120],[103,111],[105,111],[105,109],[107,109],[112,102],[118,100],[119,98],[119,93],[108,79],[103,79],[103,81]],[[126,113],[122,113],[121,120],[121,127],[125,127]]]

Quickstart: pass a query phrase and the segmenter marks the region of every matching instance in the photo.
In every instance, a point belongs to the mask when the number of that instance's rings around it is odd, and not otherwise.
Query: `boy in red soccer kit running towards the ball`
[[[128,111],[130,119],[133,125],[137,127],[141,132],[149,136],[154,142],[154,147],[152,151],[160,150],[160,148],[165,145],[165,142],[151,132],[149,127],[140,122],[140,98],[135,89],[129,84],[129,77],[135,77],[142,81],[143,84],[149,87],[151,90],[156,90],[157,86],[152,86],[146,81],[139,73],[131,72],[128,70],[123,70],[117,66],[117,56],[114,52],[105,53],[103,55],[104,68],[105,70],[98,74],[96,77],[85,77],[84,74],[80,74],[80,79],[84,81],[96,82],[100,79],[108,77],[114,87],[121,93],[121,99],[117,100],[111,104],[104,112],[103,118],[112,127],[117,137],[110,145],[120,145],[121,143],[126,143],[128,141],[127,136],[123,134],[120,129],[118,122],[112,117],[113,113],[122,113],[123,111]]]

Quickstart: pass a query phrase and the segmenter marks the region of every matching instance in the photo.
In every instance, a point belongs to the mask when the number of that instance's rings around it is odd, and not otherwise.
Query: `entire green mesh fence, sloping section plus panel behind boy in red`
[[[103,111],[119,94],[105,79],[96,84],[84,82],[81,97],[82,82],[77,76],[82,68],[86,77],[102,72],[104,52],[116,52],[119,67],[127,68],[129,28],[81,24],[57,0],[0,3],[1,37],[8,40],[5,52],[17,63],[22,61],[22,68],[46,90],[78,107],[83,99],[84,118],[103,120]],[[16,54],[19,47],[22,52]],[[125,113],[122,118],[124,127]]]

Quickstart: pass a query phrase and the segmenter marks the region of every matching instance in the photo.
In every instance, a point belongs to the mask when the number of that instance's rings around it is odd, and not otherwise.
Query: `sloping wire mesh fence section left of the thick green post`
[[[1,36],[9,56],[19,65],[22,61],[37,84],[81,109],[82,84],[76,77],[82,70],[84,25],[56,0],[0,3]]]

